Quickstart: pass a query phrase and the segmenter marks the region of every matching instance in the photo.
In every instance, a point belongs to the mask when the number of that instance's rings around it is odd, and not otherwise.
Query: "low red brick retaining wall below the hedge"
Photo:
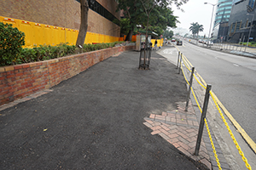
[[[107,48],[59,59],[0,67],[0,105],[51,88],[113,54],[135,46]]]

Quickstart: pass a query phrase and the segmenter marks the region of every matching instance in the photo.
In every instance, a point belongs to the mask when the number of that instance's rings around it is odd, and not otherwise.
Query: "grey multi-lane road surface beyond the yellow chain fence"
[[[256,59],[224,54],[185,41],[178,48],[201,77],[212,84],[218,99],[256,142]]]

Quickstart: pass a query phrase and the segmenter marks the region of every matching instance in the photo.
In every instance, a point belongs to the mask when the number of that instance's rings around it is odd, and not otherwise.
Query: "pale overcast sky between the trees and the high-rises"
[[[191,23],[198,22],[198,24],[203,25],[204,28],[204,31],[201,31],[199,35],[206,35],[208,37],[212,17],[212,5],[204,3],[216,4],[218,0],[189,0],[188,3],[181,6],[184,12],[172,5],[173,14],[178,16],[177,20],[180,21],[180,23],[177,24],[177,28],[172,29],[172,31],[174,31],[174,33],[180,33],[181,35],[185,33],[191,34],[191,32],[189,32]],[[216,6],[214,7],[212,25],[215,19],[215,10]]]

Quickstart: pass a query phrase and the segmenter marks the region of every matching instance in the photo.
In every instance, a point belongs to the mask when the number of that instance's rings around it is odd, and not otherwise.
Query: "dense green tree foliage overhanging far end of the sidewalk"
[[[130,22],[130,31],[127,38],[131,37],[137,25],[143,29],[154,31],[159,35],[166,30],[166,26],[176,27],[177,17],[173,16],[170,5],[180,8],[189,0],[119,0],[118,10],[123,9],[125,18]],[[149,20],[148,20],[149,19]],[[131,40],[131,39],[126,39]]]

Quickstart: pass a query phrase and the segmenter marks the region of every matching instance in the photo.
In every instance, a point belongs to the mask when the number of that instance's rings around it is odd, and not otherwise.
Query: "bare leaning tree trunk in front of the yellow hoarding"
[[[80,8],[81,8],[81,24],[79,29],[79,36],[77,39],[76,46],[83,47],[84,45],[84,39],[86,37],[87,27],[88,27],[88,10],[89,5],[87,0],[80,0]]]

